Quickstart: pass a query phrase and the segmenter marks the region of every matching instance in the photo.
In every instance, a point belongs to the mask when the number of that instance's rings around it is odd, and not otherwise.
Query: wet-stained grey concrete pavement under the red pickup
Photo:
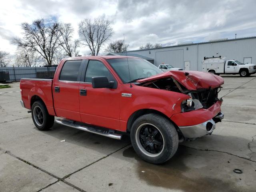
[[[19,83],[0,89],[0,192],[255,191],[256,75],[223,77],[224,120],[162,165],[140,160],[128,139],[58,124],[39,131]]]

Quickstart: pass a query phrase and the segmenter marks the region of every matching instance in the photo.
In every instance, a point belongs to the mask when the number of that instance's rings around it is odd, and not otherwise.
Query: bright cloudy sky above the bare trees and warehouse
[[[163,46],[216,38],[256,36],[256,0],[3,0],[0,6],[0,50],[14,54],[13,37],[20,24],[44,18],[71,23],[78,38],[84,18],[110,20],[111,40],[125,34],[129,50],[147,42]],[[80,54],[86,54],[80,48]]]

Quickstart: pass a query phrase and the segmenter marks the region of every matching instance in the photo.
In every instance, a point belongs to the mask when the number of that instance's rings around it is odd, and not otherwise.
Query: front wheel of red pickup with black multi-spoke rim
[[[174,125],[158,114],[145,114],[136,119],[130,136],[135,152],[150,163],[164,163],[178,149],[179,139]]]

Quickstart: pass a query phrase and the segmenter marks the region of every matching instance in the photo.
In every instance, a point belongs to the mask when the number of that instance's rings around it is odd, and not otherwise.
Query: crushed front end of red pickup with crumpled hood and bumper
[[[205,72],[170,71],[138,82],[139,86],[179,92],[189,97],[181,102],[180,113],[171,118],[185,139],[211,134],[215,123],[224,117],[220,111],[222,98],[218,98],[224,81],[219,76]]]

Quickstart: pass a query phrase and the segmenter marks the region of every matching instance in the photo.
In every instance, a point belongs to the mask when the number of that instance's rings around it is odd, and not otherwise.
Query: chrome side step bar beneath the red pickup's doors
[[[114,132],[114,130],[110,130],[110,129],[106,129],[106,128],[104,128],[104,129],[94,128],[94,127],[89,127],[89,126],[85,126],[85,125],[81,125],[81,124],[76,124],[76,123],[73,123],[73,122],[70,122],[70,121],[67,121],[67,120],[61,120],[61,119],[57,119],[57,120],[55,120],[55,122],[58,123],[58,124],[61,124],[61,125],[66,125],[66,126],[69,126],[69,127],[72,127],[72,128],[80,129],[80,130],[87,131],[87,132],[90,132],[90,133],[95,133],[95,134],[102,135],[102,136],[105,136],[105,137],[110,137],[110,138],[113,138],[113,139],[121,140],[121,138],[122,138],[121,134],[116,134]]]

